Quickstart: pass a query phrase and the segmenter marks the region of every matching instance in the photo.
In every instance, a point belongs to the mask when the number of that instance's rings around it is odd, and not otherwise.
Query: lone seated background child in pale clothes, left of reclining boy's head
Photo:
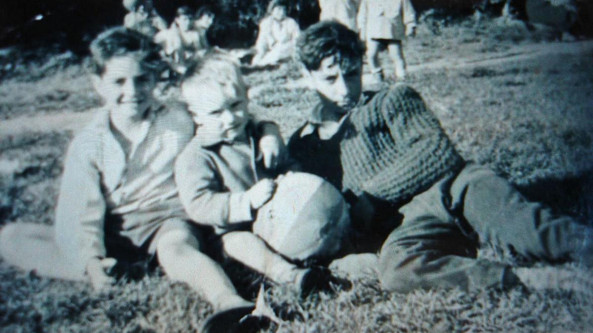
[[[268,15],[259,24],[254,47],[256,54],[251,60],[251,65],[276,65],[280,60],[292,56],[300,28],[297,21],[286,17],[288,5],[287,0],[270,1],[267,7]]]

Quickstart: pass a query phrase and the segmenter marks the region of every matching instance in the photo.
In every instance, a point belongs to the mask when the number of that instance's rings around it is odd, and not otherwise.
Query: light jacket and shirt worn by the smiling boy
[[[171,217],[187,219],[178,199],[173,163],[193,136],[187,111],[161,107],[150,115],[145,139],[125,155],[100,109],[69,145],[56,207],[55,239],[74,265],[104,257],[105,229],[141,246]],[[120,222],[108,221],[109,212]],[[152,249],[154,250],[154,249]]]

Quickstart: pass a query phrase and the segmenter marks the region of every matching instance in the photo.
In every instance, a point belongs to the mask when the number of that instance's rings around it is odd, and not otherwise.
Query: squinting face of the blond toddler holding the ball
[[[181,97],[208,139],[232,141],[245,135],[248,121],[247,95],[243,84],[184,83]]]

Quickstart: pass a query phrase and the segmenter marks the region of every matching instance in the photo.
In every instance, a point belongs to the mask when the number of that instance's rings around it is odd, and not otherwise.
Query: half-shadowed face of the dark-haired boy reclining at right
[[[347,113],[361,97],[362,63],[346,72],[336,62],[336,56],[329,56],[321,60],[318,69],[305,69],[305,76],[310,87],[319,94],[324,106],[337,113]]]

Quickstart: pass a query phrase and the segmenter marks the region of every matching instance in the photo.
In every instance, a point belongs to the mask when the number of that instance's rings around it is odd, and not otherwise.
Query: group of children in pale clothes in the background
[[[194,13],[187,6],[180,7],[167,28],[151,0],[125,0],[124,5],[130,11],[124,26],[153,38],[178,71],[183,72],[188,64],[210,48],[206,31],[215,18],[212,8],[203,6]],[[387,48],[393,60],[394,73],[387,76],[405,78],[402,41],[407,36],[414,36],[416,28],[416,13],[410,0],[320,0],[319,7],[320,20],[334,20],[358,31],[366,44],[366,59],[375,79],[384,79],[384,69],[378,60],[381,47]],[[259,23],[253,49],[238,56],[251,53],[250,65],[254,68],[277,65],[292,57],[300,28],[297,21],[287,16],[289,8],[287,0],[270,1],[267,15]]]

